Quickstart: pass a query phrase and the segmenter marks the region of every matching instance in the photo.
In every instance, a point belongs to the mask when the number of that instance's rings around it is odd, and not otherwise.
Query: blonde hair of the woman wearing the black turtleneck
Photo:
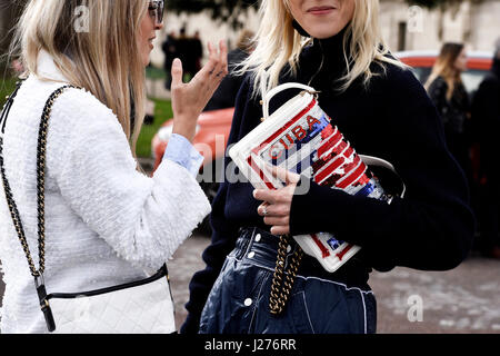
[[[289,65],[292,75],[297,75],[299,57],[306,44],[302,36],[293,29],[289,0],[262,0],[259,9],[261,24],[254,38],[256,50],[241,63],[238,71],[252,72],[254,88],[263,96],[278,85],[282,69]],[[387,57],[389,48],[384,44],[379,28],[379,0],[356,0],[354,14],[343,38],[346,75],[339,79],[340,91],[344,91],[358,78],[362,77],[368,86],[374,76],[370,66],[392,63],[407,68],[399,60]],[[349,49],[349,50],[347,50]],[[351,53],[347,57],[347,53]]]

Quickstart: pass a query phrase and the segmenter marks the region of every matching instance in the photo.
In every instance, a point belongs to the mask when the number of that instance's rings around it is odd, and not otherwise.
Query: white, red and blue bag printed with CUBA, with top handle
[[[287,89],[302,91],[269,116],[270,100]],[[321,109],[316,93],[313,88],[301,83],[286,83],[269,91],[262,105],[263,122],[229,151],[234,164],[256,188],[283,187],[270,174],[269,165],[272,165],[332,189],[390,202],[391,197],[384,194],[367,165],[382,166],[396,172],[392,165],[376,157],[358,155]],[[313,230],[314,227],[311,227]],[[330,273],[339,269],[360,250],[359,246],[338,240],[329,233],[293,238],[306,254],[316,257]]]

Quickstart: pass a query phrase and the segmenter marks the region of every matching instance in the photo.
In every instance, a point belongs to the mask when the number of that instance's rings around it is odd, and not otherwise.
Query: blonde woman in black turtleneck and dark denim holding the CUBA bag
[[[474,222],[463,172],[446,147],[426,90],[381,44],[378,1],[318,3],[262,2],[258,43],[243,63],[248,73],[228,145],[260,123],[261,88],[307,83],[320,91],[321,108],[359,154],[396,167],[406,197],[387,204],[312,181],[307,194],[293,195],[297,179],[263,192],[226,180],[212,206],[207,268],[191,280],[181,333],[374,333],[372,268],[450,269],[470,248]],[[304,37],[310,37],[306,44]],[[280,93],[271,110],[294,95]],[[332,274],[304,255],[283,313],[271,315],[276,235],[318,231],[361,250]],[[297,248],[290,243],[286,265]]]

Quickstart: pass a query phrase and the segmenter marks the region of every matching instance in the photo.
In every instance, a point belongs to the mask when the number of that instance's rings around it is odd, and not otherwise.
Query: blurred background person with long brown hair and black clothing
[[[470,160],[470,99],[461,73],[467,70],[467,51],[462,43],[444,43],[426,83],[444,126],[447,145],[472,180]]]

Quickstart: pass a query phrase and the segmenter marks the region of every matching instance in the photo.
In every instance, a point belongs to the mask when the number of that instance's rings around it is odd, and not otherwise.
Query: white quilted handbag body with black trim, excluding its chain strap
[[[50,294],[58,334],[171,334],[173,304],[166,270],[140,283],[79,294]]]

